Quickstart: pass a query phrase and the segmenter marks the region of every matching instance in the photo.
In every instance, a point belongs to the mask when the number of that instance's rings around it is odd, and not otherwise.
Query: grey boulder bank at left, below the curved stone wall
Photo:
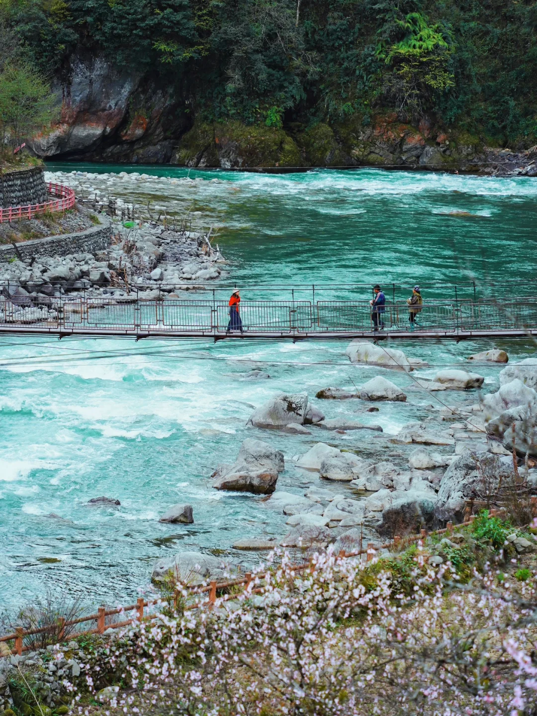
[[[97,218],[91,211],[82,216],[90,226],[91,219]],[[160,300],[203,289],[207,281],[221,276],[227,263],[211,245],[208,233],[174,230],[140,219],[112,221],[111,232],[112,245],[102,251],[32,256],[0,264],[4,296],[19,306],[45,307],[52,296],[132,300],[133,291],[137,299]]]

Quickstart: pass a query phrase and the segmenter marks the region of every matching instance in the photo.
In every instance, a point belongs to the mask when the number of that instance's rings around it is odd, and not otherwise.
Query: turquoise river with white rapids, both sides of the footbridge
[[[149,198],[168,211],[190,208],[194,226],[220,226],[218,243],[231,262],[221,284],[241,286],[244,299],[290,298],[294,285],[309,300],[312,284],[316,298],[365,299],[370,289],[356,284],[377,281],[389,297],[396,284],[399,299],[415,283],[424,286],[425,300],[453,296],[455,284],[468,297],[474,285],[479,296],[535,295],[537,181],[531,178],[372,169],[282,175],[117,165],[49,170],[88,172],[88,193],[92,182],[97,186],[95,174],[107,174],[102,179],[118,197]],[[132,183],[112,174],[120,172],[149,178]],[[227,296],[228,288],[218,292]],[[292,458],[319,440],[404,462],[385,434],[312,429],[311,436],[296,436],[245,427],[253,407],[277,392],[314,397],[322,387],[359,385],[379,372],[349,364],[346,347],[2,337],[0,611],[46,589],[80,596],[88,606],[130,603],[152,589],[153,562],[184,549],[218,550],[245,565],[255,561],[233,553],[233,541],[284,535],[286,518],[255,495],[213,490],[210,479],[218,463],[234,461],[245,437],[283,450],[286,471],[278,488],[296,493],[319,478],[301,473]],[[397,347],[427,360],[430,367],[417,372],[427,375],[464,365],[465,356],[493,344]],[[526,341],[498,347],[511,360],[535,351]],[[248,379],[253,368],[270,378]],[[495,390],[499,371],[484,369],[485,391]],[[321,407],[327,417],[352,413],[395,433],[425,419],[427,405],[442,407],[438,400],[468,402],[458,393],[424,394],[407,374],[387,377],[408,390],[407,403],[382,404],[377,413],[365,412],[359,401]],[[100,495],[119,499],[121,507],[87,508]],[[178,502],[193,505],[195,523],[159,523]]]

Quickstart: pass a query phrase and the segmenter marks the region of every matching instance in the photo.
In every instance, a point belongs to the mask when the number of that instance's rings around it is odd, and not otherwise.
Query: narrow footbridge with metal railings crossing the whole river
[[[225,301],[0,299],[0,334],[208,339],[480,339],[537,335],[537,299],[431,301],[410,330],[406,303],[386,304],[374,331],[367,301],[243,301],[244,332],[226,333]]]

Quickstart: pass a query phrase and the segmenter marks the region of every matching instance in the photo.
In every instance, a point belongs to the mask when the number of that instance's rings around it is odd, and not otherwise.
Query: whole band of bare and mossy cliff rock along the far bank
[[[537,148],[485,147],[468,132],[446,130],[434,117],[419,125],[395,112],[354,114],[344,122],[283,128],[193,116],[178,90],[102,57],[74,56],[56,80],[59,118],[29,140],[43,158],[188,167],[291,168],[415,166],[499,175],[537,175]]]

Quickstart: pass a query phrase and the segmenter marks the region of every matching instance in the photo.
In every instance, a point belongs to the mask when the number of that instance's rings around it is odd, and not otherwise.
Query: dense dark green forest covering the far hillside
[[[493,146],[537,142],[537,3],[524,0],[0,0],[26,61],[145,72],[205,121],[314,127],[397,112]]]

